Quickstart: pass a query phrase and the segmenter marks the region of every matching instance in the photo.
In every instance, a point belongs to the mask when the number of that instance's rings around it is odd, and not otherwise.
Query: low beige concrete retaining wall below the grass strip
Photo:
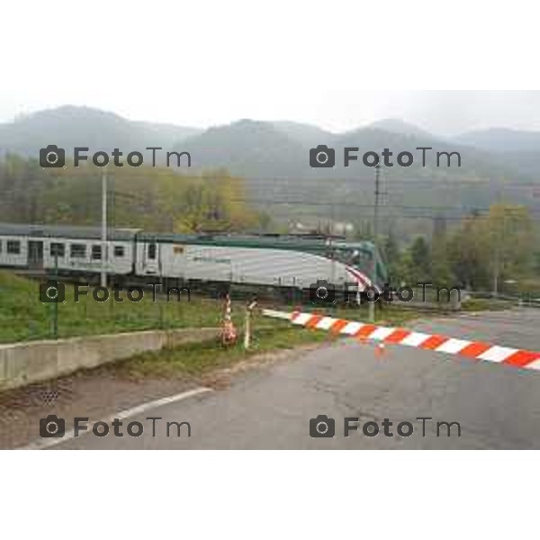
[[[183,343],[216,338],[219,329],[174,329],[0,344],[0,390],[53,379]]]

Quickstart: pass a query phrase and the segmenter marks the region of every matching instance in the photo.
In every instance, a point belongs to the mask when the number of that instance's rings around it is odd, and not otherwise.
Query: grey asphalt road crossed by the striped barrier
[[[497,345],[540,348],[540,311],[490,312],[417,326],[455,338],[475,338]],[[335,437],[310,437],[310,419],[335,419]],[[152,422],[156,420],[156,437]],[[344,437],[344,419],[358,418],[360,428]],[[422,421],[425,420],[425,437]],[[383,421],[389,419],[384,435]],[[96,420],[96,419],[93,419]],[[64,440],[56,448],[540,448],[540,372],[410,347],[387,347],[380,356],[373,345],[352,340],[299,354],[241,374],[225,390],[205,392],[158,406],[123,420],[144,426],[140,437],[85,437]],[[170,432],[166,421],[187,421]],[[380,432],[366,437],[362,426],[376,422]],[[413,432],[401,422],[410,422]],[[437,422],[458,422],[447,428]],[[321,425],[320,428],[324,428]],[[373,426],[371,426],[374,429]]]

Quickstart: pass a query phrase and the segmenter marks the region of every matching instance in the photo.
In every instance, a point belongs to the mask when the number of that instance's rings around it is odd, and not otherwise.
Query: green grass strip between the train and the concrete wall
[[[39,282],[0,272],[0,342],[49,339],[53,336],[54,304],[39,298]],[[125,298],[126,294],[121,296]],[[58,338],[147,329],[218,327],[223,304],[192,295],[192,302],[171,297],[152,302],[151,291],[141,302],[95,302],[90,294],[73,301],[66,285],[66,302],[58,304]],[[235,313],[235,318],[241,313]]]

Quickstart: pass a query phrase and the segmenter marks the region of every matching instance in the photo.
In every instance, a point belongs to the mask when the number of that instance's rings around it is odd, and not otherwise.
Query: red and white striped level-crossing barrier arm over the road
[[[484,360],[504,365],[540,370],[540,352],[527,351],[512,347],[500,347],[482,341],[449,338],[439,334],[425,334],[402,328],[376,326],[353,320],[334,319],[315,313],[293,311],[263,310],[263,315],[275,319],[290,320],[293,324],[308,329],[327,330],[334,334],[343,334],[363,341],[373,340],[389,345],[404,345],[464,356],[471,360]]]

